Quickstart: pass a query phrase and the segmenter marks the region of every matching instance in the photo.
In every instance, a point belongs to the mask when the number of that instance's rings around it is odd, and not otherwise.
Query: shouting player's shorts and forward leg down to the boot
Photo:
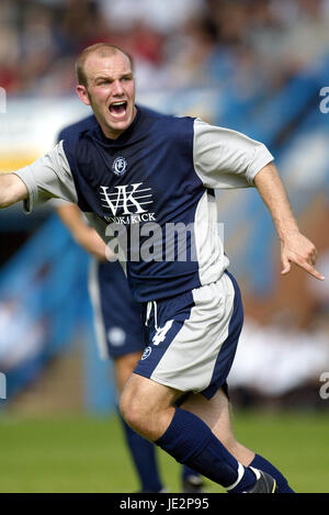
[[[270,474],[245,467],[200,416],[174,407],[183,392],[197,390],[211,399],[226,380],[243,321],[234,278],[224,275],[216,283],[147,307],[147,352],[121,398],[126,422],[227,491],[273,493]]]

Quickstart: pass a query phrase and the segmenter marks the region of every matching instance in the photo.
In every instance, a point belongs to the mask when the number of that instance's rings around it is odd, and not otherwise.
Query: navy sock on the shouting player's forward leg
[[[175,408],[168,429],[156,444],[178,462],[188,464],[224,488],[234,485],[232,493],[249,490],[256,483],[254,473],[228,452],[209,427],[180,407]]]

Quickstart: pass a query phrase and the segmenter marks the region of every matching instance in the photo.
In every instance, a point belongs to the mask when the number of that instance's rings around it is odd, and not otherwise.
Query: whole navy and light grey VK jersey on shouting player
[[[228,266],[217,233],[214,188],[252,186],[273,159],[235,131],[190,116],[137,109],[116,139],[93,116],[65,130],[57,147],[16,172],[29,205],[77,202],[107,243],[120,240],[138,302],[216,281]]]

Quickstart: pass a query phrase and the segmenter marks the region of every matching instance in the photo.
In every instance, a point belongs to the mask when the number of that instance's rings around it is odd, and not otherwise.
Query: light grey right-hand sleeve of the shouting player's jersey
[[[274,158],[262,143],[196,119],[193,159],[206,188],[228,189],[253,186],[256,175]]]

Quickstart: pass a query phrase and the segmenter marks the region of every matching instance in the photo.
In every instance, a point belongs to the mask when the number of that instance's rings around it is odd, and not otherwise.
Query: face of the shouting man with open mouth
[[[84,61],[87,87],[77,86],[77,93],[91,105],[106,137],[115,139],[136,115],[135,80],[128,58],[121,52],[109,57],[91,54]]]

